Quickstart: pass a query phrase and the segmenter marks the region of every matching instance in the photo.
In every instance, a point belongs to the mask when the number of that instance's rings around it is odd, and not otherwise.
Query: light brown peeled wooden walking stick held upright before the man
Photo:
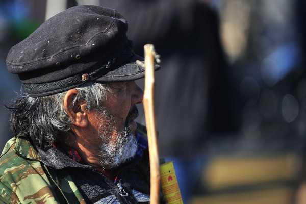
[[[156,53],[152,44],[144,45],[145,82],[143,105],[145,123],[147,126],[149,159],[150,159],[150,203],[159,203],[160,195],[160,165],[158,142],[156,138],[155,113],[154,113],[154,61]]]

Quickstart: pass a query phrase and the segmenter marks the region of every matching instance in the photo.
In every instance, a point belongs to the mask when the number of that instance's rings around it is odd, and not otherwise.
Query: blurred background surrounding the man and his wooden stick
[[[115,8],[135,52],[154,43],[161,55],[160,155],[184,203],[306,203],[303,0],[1,0],[0,148],[12,137],[4,105],[21,86],[10,47],[78,4]]]

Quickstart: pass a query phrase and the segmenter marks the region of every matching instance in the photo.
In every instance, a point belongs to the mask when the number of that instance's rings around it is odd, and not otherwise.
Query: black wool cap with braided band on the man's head
[[[116,10],[71,7],[46,20],[7,56],[32,97],[52,95],[88,81],[119,82],[144,77],[126,37],[127,22]],[[159,66],[156,65],[155,69]]]

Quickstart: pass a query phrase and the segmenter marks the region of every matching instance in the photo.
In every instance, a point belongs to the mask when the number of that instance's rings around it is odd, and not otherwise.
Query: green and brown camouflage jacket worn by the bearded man
[[[86,203],[70,172],[49,168],[28,140],[12,138],[0,157],[0,203]],[[149,193],[149,184],[145,191]],[[138,203],[134,198],[135,202],[105,199],[108,203]],[[96,203],[104,203],[100,201]]]

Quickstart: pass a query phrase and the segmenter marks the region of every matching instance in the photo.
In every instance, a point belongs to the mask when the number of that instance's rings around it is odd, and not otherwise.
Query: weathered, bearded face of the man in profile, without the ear
[[[138,116],[136,104],[142,102],[143,93],[134,81],[113,82],[109,86],[111,91],[105,104],[91,111],[89,121],[95,130],[91,137],[99,145],[101,166],[114,168],[136,153],[134,119]]]

